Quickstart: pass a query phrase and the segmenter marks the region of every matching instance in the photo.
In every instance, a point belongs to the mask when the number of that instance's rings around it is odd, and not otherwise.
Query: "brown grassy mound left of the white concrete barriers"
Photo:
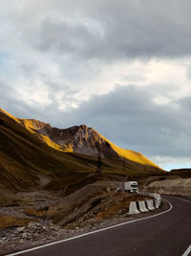
[[[104,182],[87,185],[50,207],[48,219],[67,228],[89,225],[128,213],[130,201],[144,199],[108,189]]]

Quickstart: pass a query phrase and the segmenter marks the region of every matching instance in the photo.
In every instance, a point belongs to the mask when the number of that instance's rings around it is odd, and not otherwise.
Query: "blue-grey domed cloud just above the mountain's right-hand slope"
[[[190,157],[190,111],[173,103],[158,105],[154,96],[151,86],[117,86],[79,105],[68,124],[88,124],[120,147],[147,155]]]

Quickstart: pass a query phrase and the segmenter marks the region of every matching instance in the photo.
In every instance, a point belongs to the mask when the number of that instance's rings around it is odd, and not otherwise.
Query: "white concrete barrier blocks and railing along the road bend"
[[[150,197],[153,199],[131,201],[129,205],[130,215],[144,213],[144,212],[152,211],[159,208],[160,195],[158,193],[152,193],[148,191],[138,191],[138,195],[144,196],[144,197]]]

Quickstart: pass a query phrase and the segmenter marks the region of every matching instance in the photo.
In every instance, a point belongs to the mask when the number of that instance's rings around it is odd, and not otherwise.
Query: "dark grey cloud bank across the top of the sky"
[[[38,51],[82,59],[190,56],[190,1],[89,2],[55,1],[53,11],[45,12],[24,37]],[[66,14],[71,14],[69,21]]]

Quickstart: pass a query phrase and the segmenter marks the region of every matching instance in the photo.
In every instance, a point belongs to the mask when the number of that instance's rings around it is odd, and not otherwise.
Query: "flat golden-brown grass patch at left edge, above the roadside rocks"
[[[29,222],[36,222],[34,219],[18,218],[11,216],[0,216],[0,229],[8,228],[12,226],[24,226]]]

